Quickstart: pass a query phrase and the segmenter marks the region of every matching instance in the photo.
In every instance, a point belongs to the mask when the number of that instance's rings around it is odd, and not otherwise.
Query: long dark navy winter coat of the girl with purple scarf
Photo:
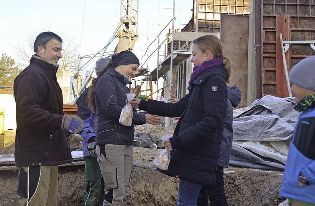
[[[210,68],[197,76],[189,86],[189,94],[175,104],[141,100],[139,109],[150,114],[184,116],[174,137],[170,138],[173,151],[168,170],[161,172],[204,186],[215,183],[226,102],[223,66]]]

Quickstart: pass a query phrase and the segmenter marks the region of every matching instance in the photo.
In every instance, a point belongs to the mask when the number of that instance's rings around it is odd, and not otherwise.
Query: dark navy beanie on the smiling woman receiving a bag
[[[128,65],[128,64],[140,65],[140,62],[137,56],[128,50],[121,51],[120,53],[114,54],[112,56],[111,63],[113,64],[114,68],[120,65]]]

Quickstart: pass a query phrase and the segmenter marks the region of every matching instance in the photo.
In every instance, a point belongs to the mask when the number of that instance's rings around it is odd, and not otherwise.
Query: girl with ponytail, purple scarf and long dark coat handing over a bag
[[[193,41],[189,94],[175,104],[133,99],[150,114],[181,116],[174,136],[164,142],[171,159],[165,174],[180,179],[178,206],[195,206],[201,186],[214,185],[227,108],[230,61],[220,40],[206,35]]]

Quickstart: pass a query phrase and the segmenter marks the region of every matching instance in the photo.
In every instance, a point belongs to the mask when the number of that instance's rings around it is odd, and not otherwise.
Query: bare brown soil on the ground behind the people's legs
[[[10,147],[1,147],[0,153],[5,150],[8,152]],[[178,179],[155,170],[152,161],[157,152],[157,149],[134,147],[134,172],[131,182],[131,198],[128,199],[128,205],[176,205]],[[78,206],[83,203],[84,164],[76,163],[73,165],[60,166],[59,168],[58,206]],[[227,168],[224,180],[229,205],[277,206],[283,200],[283,198],[278,197],[282,175],[283,173],[279,171]],[[18,205],[17,185],[17,168],[0,170],[0,206]]]

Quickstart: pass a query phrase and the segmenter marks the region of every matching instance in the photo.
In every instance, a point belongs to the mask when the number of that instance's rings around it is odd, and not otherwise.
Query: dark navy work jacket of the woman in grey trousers
[[[144,124],[145,114],[134,109],[132,125],[123,126],[119,117],[127,104],[126,94],[130,89],[124,83],[124,76],[109,68],[100,77],[95,88],[95,103],[98,112],[96,144],[133,145],[133,124]]]

